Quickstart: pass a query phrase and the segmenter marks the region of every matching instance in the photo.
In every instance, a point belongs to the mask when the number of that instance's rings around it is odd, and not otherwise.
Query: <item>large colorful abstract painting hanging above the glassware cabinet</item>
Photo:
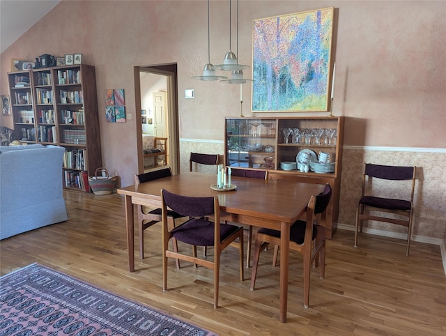
[[[334,8],[254,20],[252,112],[326,112]]]

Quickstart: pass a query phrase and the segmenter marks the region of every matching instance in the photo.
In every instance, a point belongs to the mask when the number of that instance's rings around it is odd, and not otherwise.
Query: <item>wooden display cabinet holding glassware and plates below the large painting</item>
[[[224,162],[228,167],[267,169],[268,179],[286,182],[330,183],[332,199],[327,208],[326,236],[332,238],[337,228],[339,188],[341,181],[344,117],[278,117],[278,118],[226,118]],[[283,129],[311,130],[312,135],[302,139],[288,135]],[[332,130],[332,135],[326,130]],[[281,162],[296,162],[302,151],[312,151],[317,160],[320,151],[330,154],[332,171],[321,172],[319,166],[303,172],[284,170]],[[298,162],[296,162],[296,168]]]

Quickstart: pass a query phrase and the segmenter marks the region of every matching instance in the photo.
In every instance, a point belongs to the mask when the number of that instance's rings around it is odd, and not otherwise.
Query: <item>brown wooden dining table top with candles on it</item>
[[[210,186],[217,183],[217,175],[187,172],[141,183],[137,187],[120,188],[118,194],[131,196],[132,203],[160,202],[162,188],[191,197],[217,196],[222,211],[226,213],[293,223],[302,214],[310,197],[325,187],[236,176],[231,180],[231,184],[236,185],[235,190],[215,191]]]

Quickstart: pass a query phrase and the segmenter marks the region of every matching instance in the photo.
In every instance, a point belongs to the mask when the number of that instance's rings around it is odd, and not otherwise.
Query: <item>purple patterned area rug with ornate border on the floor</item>
[[[38,264],[0,278],[0,335],[217,336]]]

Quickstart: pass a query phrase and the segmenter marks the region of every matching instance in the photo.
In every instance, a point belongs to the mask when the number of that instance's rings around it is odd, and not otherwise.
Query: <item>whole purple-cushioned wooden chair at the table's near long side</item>
[[[220,204],[218,197],[188,197],[161,190],[162,197],[162,290],[167,291],[167,260],[168,258],[190,261],[195,266],[210,268],[214,273],[214,308],[218,307],[218,289],[220,281],[220,255],[233,240],[240,240],[240,281],[243,275],[243,228],[232,224],[220,223]],[[189,220],[169,229],[167,208]],[[208,220],[213,216],[214,221]],[[192,245],[192,256],[169,250],[169,240],[176,238],[183,243]],[[213,246],[213,261],[197,257],[198,246]]]

